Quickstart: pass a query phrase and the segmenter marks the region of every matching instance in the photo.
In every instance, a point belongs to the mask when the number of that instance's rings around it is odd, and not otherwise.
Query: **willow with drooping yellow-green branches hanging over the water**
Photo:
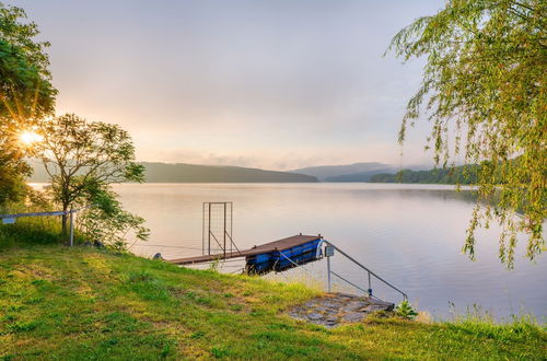
[[[480,164],[463,249],[474,258],[477,228],[499,222],[499,256],[509,267],[521,232],[529,259],[545,249],[546,25],[543,0],[449,0],[437,14],[403,28],[389,47],[405,61],[427,60],[399,141],[423,116],[437,165],[459,154]]]

